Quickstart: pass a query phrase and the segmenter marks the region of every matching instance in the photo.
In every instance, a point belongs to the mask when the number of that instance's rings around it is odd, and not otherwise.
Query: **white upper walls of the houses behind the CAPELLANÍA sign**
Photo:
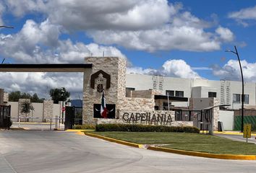
[[[127,74],[127,87],[135,88],[135,90],[153,89],[153,76],[142,74]],[[233,103],[233,94],[242,94],[241,81],[212,81],[207,79],[181,79],[173,77],[163,77],[162,94],[166,94],[166,90],[184,91],[184,97],[208,97],[208,92],[216,92],[217,98],[221,101],[221,84],[224,84],[223,98],[224,102],[221,104],[230,104],[231,109],[241,108],[241,103]],[[198,88],[197,88],[198,86]],[[227,92],[229,86],[229,94]],[[200,89],[201,87],[201,89]],[[192,93],[195,91],[194,93]],[[192,96],[193,94],[193,96]],[[244,83],[244,94],[249,94],[249,104],[256,105],[256,84]],[[229,101],[228,101],[229,99]],[[187,107],[187,102],[174,102],[172,105]]]

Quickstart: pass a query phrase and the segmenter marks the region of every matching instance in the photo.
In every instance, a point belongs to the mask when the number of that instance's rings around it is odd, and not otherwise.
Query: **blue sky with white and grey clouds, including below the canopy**
[[[256,82],[256,0],[1,0],[0,61],[84,63],[120,56],[127,73]],[[1,63],[1,62],[0,62]],[[82,98],[81,73],[0,73],[6,92],[65,87]]]

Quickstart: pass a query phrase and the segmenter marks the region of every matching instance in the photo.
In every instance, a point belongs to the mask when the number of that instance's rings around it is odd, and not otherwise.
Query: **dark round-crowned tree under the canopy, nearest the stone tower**
[[[58,103],[59,101],[65,102],[70,96],[70,93],[67,92],[65,88],[51,89],[49,94],[51,96],[51,99],[54,100],[54,103]]]

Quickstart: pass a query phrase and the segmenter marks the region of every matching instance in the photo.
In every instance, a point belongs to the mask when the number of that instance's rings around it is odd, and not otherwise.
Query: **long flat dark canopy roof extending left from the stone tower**
[[[0,72],[85,72],[91,63],[0,64]]]

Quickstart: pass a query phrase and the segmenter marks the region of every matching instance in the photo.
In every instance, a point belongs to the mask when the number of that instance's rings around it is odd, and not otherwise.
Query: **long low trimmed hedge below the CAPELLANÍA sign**
[[[137,125],[137,124],[100,124],[96,131],[131,131],[131,132],[185,132],[199,133],[200,130],[191,126],[166,126],[166,125]]]

